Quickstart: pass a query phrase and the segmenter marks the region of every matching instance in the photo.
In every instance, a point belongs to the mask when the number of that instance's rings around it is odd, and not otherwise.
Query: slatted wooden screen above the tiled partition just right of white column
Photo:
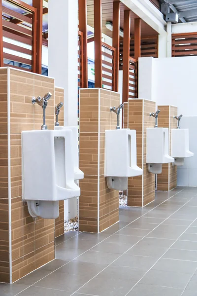
[[[116,49],[102,42],[102,87],[115,89],[115,54]]]

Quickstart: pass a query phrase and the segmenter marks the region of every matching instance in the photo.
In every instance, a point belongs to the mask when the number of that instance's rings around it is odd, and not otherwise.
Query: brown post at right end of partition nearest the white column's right
[[[116,49],[115,54],[115,81],[114,91],[118,92],[119,79],[119,52],[120,52],[120,1],[113,2],[113,47]]]

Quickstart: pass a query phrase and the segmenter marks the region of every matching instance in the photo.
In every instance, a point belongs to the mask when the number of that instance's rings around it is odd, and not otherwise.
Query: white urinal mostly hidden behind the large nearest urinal
[[[84,173],[79,169],[78,128],[77,128],[77,126],[55,126],[55,130],[71,130],[72,131],[74,180],[83,179]]]

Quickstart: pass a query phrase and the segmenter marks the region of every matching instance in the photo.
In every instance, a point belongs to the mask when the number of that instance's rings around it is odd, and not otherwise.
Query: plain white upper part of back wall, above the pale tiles
[[[140,58],[139,97],[197,115],[197,57]]]

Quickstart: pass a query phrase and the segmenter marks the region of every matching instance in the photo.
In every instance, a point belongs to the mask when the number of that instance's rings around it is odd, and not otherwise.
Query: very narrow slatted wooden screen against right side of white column
[[[83,33],[78,31],[78,89],[83,88]]]

